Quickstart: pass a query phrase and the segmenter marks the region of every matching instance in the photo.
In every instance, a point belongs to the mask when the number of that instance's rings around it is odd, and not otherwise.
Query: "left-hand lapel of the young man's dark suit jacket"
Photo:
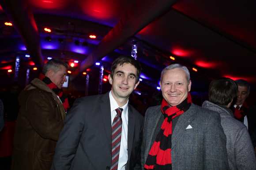
[[[109,145],[109,151],[110,153],[112,153],[112,129],[111,129],[111,110],[110,110],[109,92],[103,95],[102,101],[100,103],[100,107],[102,111],[102,119],[103,119],[107,141]]]

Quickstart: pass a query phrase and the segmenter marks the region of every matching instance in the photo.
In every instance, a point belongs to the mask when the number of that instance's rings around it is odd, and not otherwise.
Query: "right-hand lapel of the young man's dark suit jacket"
[[[128,104],[128,137],[127,137],[127,148],[128,148],[128,160],[131,157],[132,153],[132,143],[133,143],[133,135],[135,128],[135,118],[134,113],[132,112],[132,106]]]

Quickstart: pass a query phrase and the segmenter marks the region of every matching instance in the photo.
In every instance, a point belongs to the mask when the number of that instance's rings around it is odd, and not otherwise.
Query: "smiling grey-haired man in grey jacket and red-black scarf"
[[[217,112],[192,103],[188,69],[163,69],[162,105],[145,114],[142,166],[151,170],[226,170],[226,136]]]

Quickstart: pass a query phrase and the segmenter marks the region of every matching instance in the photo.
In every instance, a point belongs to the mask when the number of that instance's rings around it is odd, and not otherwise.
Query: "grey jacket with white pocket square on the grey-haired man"
[[[152,140],[162,124],[161,105],[147,109],[141,163],[145,165]],[[160,127],[160,128],[156,128]],[[217,112],[192,104],[181,114],[172,134],[172,170],[227,170],[226,136]]]

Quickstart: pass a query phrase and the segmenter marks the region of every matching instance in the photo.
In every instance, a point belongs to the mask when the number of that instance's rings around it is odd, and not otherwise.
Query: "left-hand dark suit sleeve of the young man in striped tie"
[[[55,148],[51,170],[69,170],[83,133],[85,110],[78,98],[65,118],[63,130]]]

